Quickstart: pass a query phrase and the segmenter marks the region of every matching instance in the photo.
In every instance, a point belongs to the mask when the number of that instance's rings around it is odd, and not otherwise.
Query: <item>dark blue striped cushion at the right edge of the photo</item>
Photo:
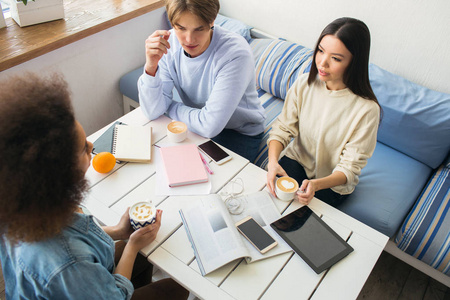
[[[431,177],[397,235],[397,246],[450,276],[450,159]]]

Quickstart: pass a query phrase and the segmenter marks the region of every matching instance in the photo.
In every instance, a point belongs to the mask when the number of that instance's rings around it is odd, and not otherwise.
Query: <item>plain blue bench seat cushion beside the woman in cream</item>
[[[373,156],[362,170],[360,183],[338,208],[392,237],[431,172],[429,166],[377,142]]]

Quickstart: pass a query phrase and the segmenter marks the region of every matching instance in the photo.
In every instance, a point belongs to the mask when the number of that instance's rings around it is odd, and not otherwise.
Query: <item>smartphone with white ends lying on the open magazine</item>
[[[275,241],[273,237],[271,237],[270,234],[250,216],[237,222],[236,227],[262,254],[278,245],[277,241]]]

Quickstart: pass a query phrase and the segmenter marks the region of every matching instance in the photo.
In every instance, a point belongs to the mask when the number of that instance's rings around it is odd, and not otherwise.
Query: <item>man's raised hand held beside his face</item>
[[[169,37],[170,31],[156,30],[145,40],[145,72],[148,75],[155,76],[159,60],[170,49]]]

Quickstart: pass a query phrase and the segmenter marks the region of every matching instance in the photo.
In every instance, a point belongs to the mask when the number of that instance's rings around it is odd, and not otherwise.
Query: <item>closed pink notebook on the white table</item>
[[[208,181],[197,145],[162,147],[159,150],[170,187]]]

